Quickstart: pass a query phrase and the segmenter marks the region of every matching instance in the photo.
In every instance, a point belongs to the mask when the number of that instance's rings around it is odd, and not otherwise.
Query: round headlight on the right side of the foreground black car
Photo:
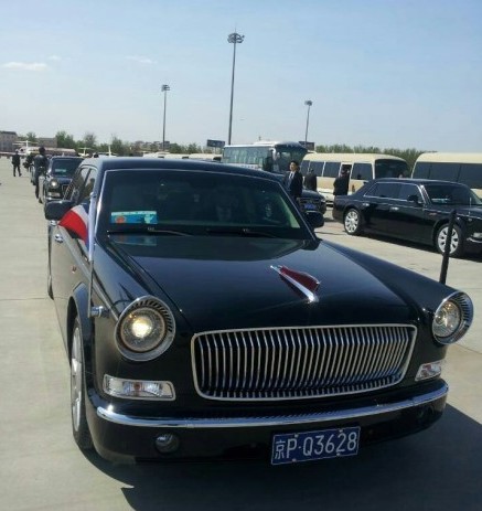
[[[464,292],[454,292],[440,304],[433,315],[433,337],[441,344],[457,342],[471,326],[472,318],[472,300]]]

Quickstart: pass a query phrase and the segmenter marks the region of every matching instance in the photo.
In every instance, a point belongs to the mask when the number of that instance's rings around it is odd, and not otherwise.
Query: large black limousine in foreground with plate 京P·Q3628
[[[272,174],[88,159],[45,217],[82,449],[278,465],[442,414],[470,298],[319,239]]]

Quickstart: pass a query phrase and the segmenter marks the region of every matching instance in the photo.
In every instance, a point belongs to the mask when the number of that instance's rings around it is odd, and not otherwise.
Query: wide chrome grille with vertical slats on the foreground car
[[[299,400],[398,383],[417,330],[408,324],[204,332],[192,340],[196,390],[211,400]]]

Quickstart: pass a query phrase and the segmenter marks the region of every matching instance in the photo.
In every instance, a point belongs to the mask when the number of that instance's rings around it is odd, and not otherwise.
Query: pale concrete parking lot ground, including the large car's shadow
[[[449,405],[418,435],[352,458],[286,467],[265,462],[117,466],[81,453],[71,434],[69,372],[46,295],[46,224],[29,177],[0,158],[0,509],[9,511],[482,509],[482,290],[479,259],[452,260],[475,321],[450,347]],[[330,214],[330,213],[329,213]],[[332,221],[320,236],[438,278],[433,252],[350,237]]]

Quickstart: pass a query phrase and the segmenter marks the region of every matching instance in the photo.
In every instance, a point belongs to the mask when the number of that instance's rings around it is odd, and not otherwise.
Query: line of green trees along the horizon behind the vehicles
[[[30,131],[19,138],[29,140],[29,142],[35,143],[38,137],[34,132]],[[158,151],[158,143],[146,143],[146,142],[127,142],[120,140],[118,137],[113,136],[110,143],[99,143],[95,134],[87,131],[81,140],[75,140],[74,137],[64,130],[57,131],[55,135],[57,140],[57,147],[64,149],[75,149],[77,152],[110,152],[118,156],[129,155],[142,155],[146,151]],[[169,151],[174,155],[192,155],[195,152],[213,152],[211,148],[203,148],[197,143],[180,145],[170,143]],[[332,146],[317,146],[317,152],[376,152],[382,155],[392,155],[403,158],[408,167],[411,169],[417,158],[427,151],[418,149],[397,149],[397,148],[385,148],[382,149],[375,146],[346,146],[344,143],[336,143]]]

